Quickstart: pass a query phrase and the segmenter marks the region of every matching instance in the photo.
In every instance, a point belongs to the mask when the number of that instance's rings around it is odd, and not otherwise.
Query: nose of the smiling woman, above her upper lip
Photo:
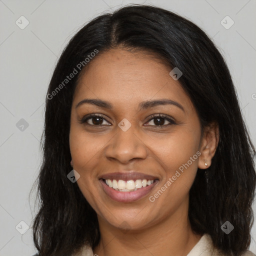
[[[105,148],[107,158],[116,159],[123,164],[129,163],[133,158],[146,158],[146,145],[133,127],[134,125],[131,125],[126,131],[117,127],[116,134]]]

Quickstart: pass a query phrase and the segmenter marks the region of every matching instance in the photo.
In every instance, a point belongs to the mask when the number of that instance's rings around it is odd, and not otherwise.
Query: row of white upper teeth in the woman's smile
[[[106,184],[109,187],[112,187],[115,190],[118,191],[135,191],[141,187],[145,187],[147,185],[151,185],[153,183],[153,180],[146,180],[146,179],[136,179],[134,180],[122,180],[122,179],[105,179]]]

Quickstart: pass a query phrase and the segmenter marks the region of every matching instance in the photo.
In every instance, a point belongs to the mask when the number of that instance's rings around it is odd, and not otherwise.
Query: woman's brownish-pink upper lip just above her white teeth
[[[111,173],[105,173],[100,178],[103,179],[122,179],[122,180],[131,180],[131,179],[147,179],[147,180],[154,180],[157,179],[157,177],[148,175],[142,172],[111,172]]]

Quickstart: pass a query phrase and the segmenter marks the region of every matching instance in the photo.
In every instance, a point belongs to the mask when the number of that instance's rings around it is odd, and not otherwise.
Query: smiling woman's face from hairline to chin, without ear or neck
[[[69,143],[77,185],[112,227],[138,230],[187,213],[201,130],[170,70],[146,52],[112,49],[89,63],[75,89]]]

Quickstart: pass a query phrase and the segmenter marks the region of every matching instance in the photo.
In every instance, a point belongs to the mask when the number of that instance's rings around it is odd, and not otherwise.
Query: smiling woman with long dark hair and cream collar
[[[223,57],[177,14],[130,5],[73,36],[43,150],[40,256],[254,255],[255,150]]]

